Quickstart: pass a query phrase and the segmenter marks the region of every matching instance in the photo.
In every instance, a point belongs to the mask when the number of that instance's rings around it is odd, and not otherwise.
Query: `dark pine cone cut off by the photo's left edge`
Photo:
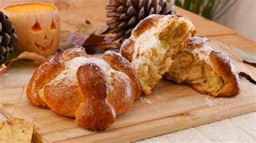
[[[14,32],[15,27],[12,26],[9,18],[0,11],[0,61],[4,60],[12,51],[12,44],[17,41],[17,35]]]

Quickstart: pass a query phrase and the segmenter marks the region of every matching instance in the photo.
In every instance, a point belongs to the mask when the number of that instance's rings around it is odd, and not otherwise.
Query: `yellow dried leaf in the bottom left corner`
[[[0,119],[0,142],[31,142],[33,125],[24,119]]]

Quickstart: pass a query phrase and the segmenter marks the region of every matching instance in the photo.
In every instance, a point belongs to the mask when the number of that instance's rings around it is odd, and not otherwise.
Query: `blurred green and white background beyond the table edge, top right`
[[[256,41],[255,0],[172,0],[171,2]]]

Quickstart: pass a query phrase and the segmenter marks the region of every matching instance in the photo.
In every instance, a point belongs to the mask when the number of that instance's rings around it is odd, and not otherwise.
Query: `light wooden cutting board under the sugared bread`
[[[208,44],[226,50],[233,62],[236,62],[235,65],[247,66],[241,63],[241,59],[235,53],[227,50],[228,46],[216,41]],[[9,116],[13,111],[21,92],[22,86],[0,88],[0,111],[5,116]],[[256,111],[255,97],[255,93],[242,90],[235,97],[213,98],[198,94],[187,85],[174,84],[162,79],[152,94],[138,99],[129,112],[118,117],[105,131],[85,130],[72,118],[37,108],[25,95],[22,96],[14,117],[25,118],[39,128],[32,137],[36,142],[123,142],[154,137]]]

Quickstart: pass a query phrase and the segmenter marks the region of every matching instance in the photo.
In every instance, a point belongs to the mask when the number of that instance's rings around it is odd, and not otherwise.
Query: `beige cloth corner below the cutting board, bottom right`
[[[246,113],[138,142],[255,142],[255,117]]]

